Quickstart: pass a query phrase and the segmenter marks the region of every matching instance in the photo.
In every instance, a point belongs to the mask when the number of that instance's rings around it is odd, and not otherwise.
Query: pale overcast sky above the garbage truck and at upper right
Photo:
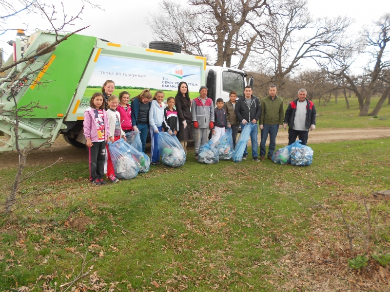
[[[18,0],[9,0],[17,3]],[[95,36],[107,39],[111,42],[140,46],[141,43],[148,44],[153,40],[153,35],[147,25],[147,19],[151,19],[152,14],[158,12],[160,0],[92,0],[100,4],[104,11],[93,9],[85,3],[85,10],[81,16],[82,20],[75,21],[74,27],[69,30],[90,26],[80,32],[83,35]],[[183,3],[184,0],[181,0]],[[59,12],[61,0],[51,0],[47,3],[54,3]],[[76,10],[82,6],[82,0],[62,0],[68,15],[75,15]],[[372,20],[379,18],[384,13],[390,12],[389,0],[308,0],[309,10],[314,18],[348,16],[355,19],[353,30],[358,32],[362,26],[370,25]],[[4,15],[4,12],[1,12]],[[61,14],[57,15],[61,18]],[[40,15],[25,15],[6,19],[3,27],[47,29],[47,20]],[[7,44],[10,39],[15,39],[15,31],[9,31],[0,36],[0,48],[5,51],[4,58],[11,54],[12,47]]]

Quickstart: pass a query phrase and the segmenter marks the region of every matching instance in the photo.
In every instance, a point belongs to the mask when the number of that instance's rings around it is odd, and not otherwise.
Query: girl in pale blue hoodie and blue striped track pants
[[[162,132],[162,124],[168,127],[164,120],[164,92],[156,91],[155,96],[152,100],[152,105],[149,110],[149,128],[150,128],[150,138],[152,140],[152,148],[150,150],[151,164],[156,165],[160,164],[160,153],[158,152],[158,133]],[[171,129],[168,130],[168,133],[172,135]]]

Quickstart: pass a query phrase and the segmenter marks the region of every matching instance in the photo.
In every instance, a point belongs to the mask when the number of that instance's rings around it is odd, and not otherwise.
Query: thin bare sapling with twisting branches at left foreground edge
[[[85,2],[89,2],[89,0],[84,0]],[[48,6],[45,3],[36,1],[36,0],[31,0],[31,1],[23,1],[20,0],[22,4],[24,4],[24,9],[22,10],[12,10],[14,14],[20,13],[20,11],[23,11],[25,9],[34,9],[35,12],[39,12],[45,19],[47,19],[48,23],[52,27],[52,32],[55,34],[55,40],[52,43],[43,43],[39,45],[39,47],[33,51],[29,55],[23,55],[19,60],[16,60],[14,62],[11,62],[9,65],[5,65],[1,67],[0,73],[6,73],[5,78],[2,78],[0,81],[1,84],[7,84],[5,88],[2,88],[2,93],[11,93],[8,96],[9,101],[11,101],[14,106],[13,107],[6,107],[4,103],[1,104],[0,106],[0,115],[1,118],[4,122],[6,122],[8,125],[10,125],[12,131],[15,133],[15,145],[16,145],[16,150],[18,151],[19,154],[19,164],[18,164],[18,169],[17,173],[15,175],[14,183],[11,186],[11,189],[8,193],[8,196],[6,197],[6,204],[4,208],[4,213],[10,213],[12,210],[12,206],[14,205],[16,201],[16,195],[18,192],[19,184],[23,182],[24,180],[30,178],[31,176],[35,175],[39,171],[42,171],[43,169],[47,168],[42,168],[39,170],[34,169],[31,172],[28,173],[23,173],[25,167],[26,167],[26,160],[27,156],[36,149],[39,149],[40,147],[47,146],[51,144],[53,139],[52,137],[49,137],[46,142],[40,144],[40,145],[32,145],[30,142],[29,145],[23,145],[20,144],[20,121],[24,118],[31,118],[34,117],[34,111],[36,109],[46,109],[47,107],[41,107],[39,105],[39,101],[35,102],[30,102],[27,105],[24,106],[19,106],[18,105],[18,99],[16,98],[17,93],[20,91],[22,87],[29,86],[33,80],[35,80],[37,74],[44,70],[45,68],[45,63],[40,64],[38,66],[38,69],[31,69],[31,64],[37,62],[35,60],[36,56],[41,56],[48,54],[50,52],[53,52],[56,48],[56,46],[61,43],[62,41],[65,41],[68,39],[70,36],[75,34],[76,32],[85,29],[81,28],[78,29],[74,32],[71,33],[66,33],[65,29],[68,25],[73,25],[73,22],[80,18],[81,13],[84,10],[84,6],[82,6],[78,12],[78,14],[74,17],[70,16],[68,17],[67,14],[65,13],[64,6],[62,5],[62,12],[63,12],[63,18],[62,18],[62,23],[59,25],[55,25],[55,21],[57,20],[57,11],[54,7],[54,5]],[[3,7],[8,8],[9,6],[11,7],[12,4],[7,1],[1,1],[0,5],[3,5]],[[8,6],[7,6],[8,5]],[[94,4],[92,4],[94,5]],[[94,5],[95,7],[98,7]],[[6,9],[5,9],[6,10]],[[8,12],[8,10],[6,10]],[[11,14],[7,14],[6,17],[0,17],[0,19],[5,19],[12,16]],[[3,23],[4,24],[4,23]],[[6,30],[7,28],[4,28],[2,26],[2,29]],[[10,72],[10,69],[16,68],[17,65],[22,66],[22,68],[26,69],[26,72],[28,73],[12,73]],[[23,69],[23,70],[24,70]],[[21,82],[23,81],[23,82]],[[37,85],[38,86],[44,86],[45,82],[50,82],[48,80],[43,80],[41,79]],[[59,159],[60,160],[60,159]],[[58,160],[58,161],[59,161]]]

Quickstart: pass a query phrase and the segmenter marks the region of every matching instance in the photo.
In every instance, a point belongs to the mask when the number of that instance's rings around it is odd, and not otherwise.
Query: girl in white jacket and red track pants
[[[111,128],[112,134],[109,136],[109,139],[112,143],[119,140],[120,137],[126,140],[125,132],[120,128],[120,114],[117,111],[118,107],[118,98],[115,95],[111,95],[108,99],[108,107],[107,117],[108,117],[108,125]],[[111,161],[110,151],[107,147],[107,178],[111,181],[111,183],[117,183],[119,180],[115,177],[114,165]]]

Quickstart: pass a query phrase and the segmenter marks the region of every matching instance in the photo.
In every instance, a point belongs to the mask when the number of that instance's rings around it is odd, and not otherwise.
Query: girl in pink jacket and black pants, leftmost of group
[[[95,185],[106,184],[103,181],[106,141],[110,136],[107,113],[104,110],[104,97],[95,92],[90,101],[90,110],[84,112],[84,135],[87,139],[89,180]]]

